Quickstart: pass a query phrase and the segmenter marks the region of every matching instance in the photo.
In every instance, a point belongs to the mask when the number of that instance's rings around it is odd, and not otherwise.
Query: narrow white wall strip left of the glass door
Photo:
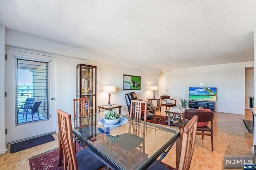
[[[0,154],[5,153],[6,149],[6,100],[4,97],[5,92],[5,26],[0,24]]]

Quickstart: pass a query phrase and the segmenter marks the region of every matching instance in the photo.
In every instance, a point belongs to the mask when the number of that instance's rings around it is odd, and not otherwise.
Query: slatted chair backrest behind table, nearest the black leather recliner
[[[147,102],[141,100],[131,100],[130,116],[134,119],[141,120],[144,116],[144,121],[147,120]]]

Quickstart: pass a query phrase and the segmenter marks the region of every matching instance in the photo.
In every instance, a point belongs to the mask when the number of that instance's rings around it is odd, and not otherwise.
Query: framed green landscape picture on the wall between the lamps
[[[140,90],[140,76],[131,76],[124,74],[123,90]]]

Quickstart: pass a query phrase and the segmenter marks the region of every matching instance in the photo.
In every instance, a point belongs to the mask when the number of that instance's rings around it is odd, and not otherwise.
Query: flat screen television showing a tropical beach
[[[189,99],[216,101],[216,87],[190,87]]]

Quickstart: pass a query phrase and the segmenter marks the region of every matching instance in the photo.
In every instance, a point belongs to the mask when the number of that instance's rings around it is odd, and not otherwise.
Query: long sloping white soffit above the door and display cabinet
[[[34,37],[32,35],[27,35],[8,29],[6,29],[5,39],[5,44],[12,47],[20,47],[22,49],[30,49],[54,55],[86,59],[87,61],[96,61],[98,63],[114,64],[126,68],[145,70],[148,72],[160,72],[159,69],[144,66],[143,63],[134,63],[132,61],[129,62],[129,60],[124,62],[122,59],[115,59],[115,62],[113,63],[112,57],[98,53],[96,51],[58,43],[55,41],[50,41],[48,39]]]

